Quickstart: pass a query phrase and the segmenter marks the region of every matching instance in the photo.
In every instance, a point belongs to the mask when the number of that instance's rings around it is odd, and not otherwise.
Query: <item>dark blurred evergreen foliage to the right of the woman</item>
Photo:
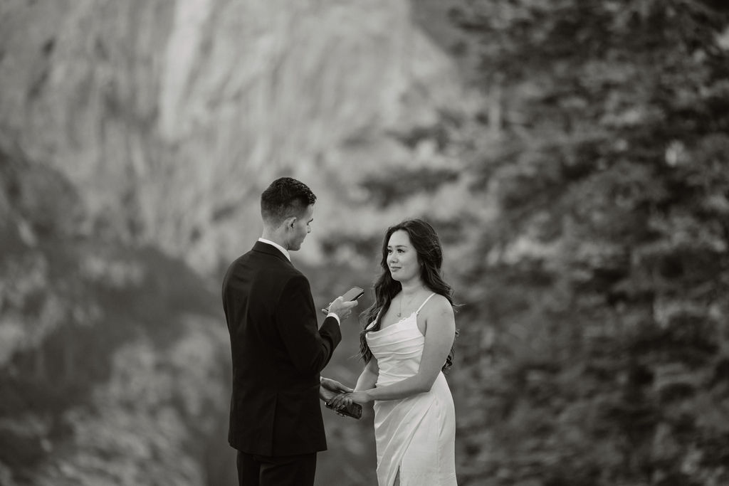
[[[498,208],[464,227],[462,483],[725,484],[728,9],[458,3]]]

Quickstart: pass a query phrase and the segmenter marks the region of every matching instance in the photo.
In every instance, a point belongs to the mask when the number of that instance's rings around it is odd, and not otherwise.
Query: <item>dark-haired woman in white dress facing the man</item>
[[[442,372],[456,323],[442,262],[430,224],[411,219],[387,230],[375,303],[362,313],[366,365],[354,391],[332,400],[335,408],[375,402],[380,486],[456,485],[456,417]]]

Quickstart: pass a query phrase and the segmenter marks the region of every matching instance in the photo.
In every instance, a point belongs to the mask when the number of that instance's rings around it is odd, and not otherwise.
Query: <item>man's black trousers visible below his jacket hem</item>
[[[238,486],[313,486],[316,452],[303,455],[246,454],[238,451]]]

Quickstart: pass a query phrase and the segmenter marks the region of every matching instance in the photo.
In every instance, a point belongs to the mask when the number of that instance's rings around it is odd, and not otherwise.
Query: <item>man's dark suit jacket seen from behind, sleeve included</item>
[[[319,372],[342,339],[337,320],[318,329],[308,280],[260,241],[228,268],[222,299],[233,354],[230,445],[267,456],[326,450]]]

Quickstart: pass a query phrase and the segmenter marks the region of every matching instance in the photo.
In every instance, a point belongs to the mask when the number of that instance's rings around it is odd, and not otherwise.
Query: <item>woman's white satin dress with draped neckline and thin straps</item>
[[[425,337],[414,313],[379,331],[367,332],[367,345],[380,369],[377,386],[416,375]],[[456,413],[443,373],[432,388],[401,400],[375,401],[375,441],[379,486],[456,485]]]

